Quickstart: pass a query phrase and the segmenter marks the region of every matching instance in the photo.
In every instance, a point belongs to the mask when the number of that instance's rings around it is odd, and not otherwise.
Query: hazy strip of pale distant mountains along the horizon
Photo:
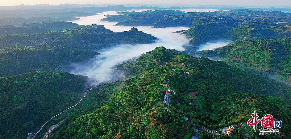
[[[261,11],[281,11],[291,13],[291,5],[289,6],[239,6],[239,5],[210,5],[210,4],[20,4],[15,6],[0,6],[0,10],[52,10],[52,9],[66,9],[66,8],[90,8],[90,7],[106,7],[106,6],[124,6],[124,7],[139,7],[144,6],[143,9],[161,8],[163,10],[172,9],[208,9],[208,10],[234,10],[234,9],[249,9]],[[149,8],[148,8],[149,7]],[[140,9],[140,8],[137,8]],[[189,10],[186,10],[189,12]],[[185,11],[185,12],[186,12]],[[191,10],[190,10],[191,11]],[[92,12],[92,11],[91,11]]]

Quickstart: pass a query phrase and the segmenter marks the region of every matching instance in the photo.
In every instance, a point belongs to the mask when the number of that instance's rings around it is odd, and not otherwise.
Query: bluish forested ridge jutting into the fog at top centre
[[[103,21],[118,22],[124,26],[152,26],[165,27],[192,27],[195,18],[211,16],[206,13],[185,13],[179,10],[149,10],[144,12],[120,12],[121,15],[112,15],[103,18]]]

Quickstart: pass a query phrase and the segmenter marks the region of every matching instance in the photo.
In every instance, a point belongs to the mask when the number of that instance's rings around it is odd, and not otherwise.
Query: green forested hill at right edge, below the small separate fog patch
[[[291,82],[291,40],[235,41],[214,50],[198,52],[204,57],[222,57],[229,64],[258,73],[280,75]]]

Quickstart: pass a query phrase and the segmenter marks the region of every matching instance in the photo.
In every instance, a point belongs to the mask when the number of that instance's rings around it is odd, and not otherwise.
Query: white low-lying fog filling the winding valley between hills
[[[143,10],[139,10],[143,11]],[[104,15],[118,15],[117,11],[98,13],[94,16],[78,17],[80,19],[71,21],[79,25],[104,25],[106,29],[110,29],[114,32],[128,31],[133,26],[114,26],[117,22],[100,21],[105,18]],[[98,83],[112,81],[117,79],[118,76],[114,73],[112,67],[119,63],[123,63],[129,59],[137,58],[138,56],[155,49],[157,46],[164,46],[167,49],[177,49],[179,51],[185,51],[183,46],[187,46],[189,40],[184,34],[173,33],[175,31],[181,31],[189,29],[189,27],[171,27],[171,28],[152,28],[150,26],[135,26],[139,31],[152,34],[159,40],[152,44],[120,44],[114,48],[106,48],[98,50],[96,52],[101,55],[91,59],[90,64],[73,64],[74,69],[70,71],[73,74],[88,75],[90,78],[97,80]],[[230,43],[229,41],[218,41],[218,43],[206,43],[199,50],[212,49],[220,46],[224,46]],[[204,48],[204,49],[203,49]]]

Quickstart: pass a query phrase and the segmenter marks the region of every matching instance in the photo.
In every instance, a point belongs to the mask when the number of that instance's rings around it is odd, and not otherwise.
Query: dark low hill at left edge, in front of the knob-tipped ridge
[[[17,75],[31,71],[64,71],[72,63],[88,61],[98,55],[89,50],[44,47],[32,50],[15,50],[0,54],[0,76]]]

